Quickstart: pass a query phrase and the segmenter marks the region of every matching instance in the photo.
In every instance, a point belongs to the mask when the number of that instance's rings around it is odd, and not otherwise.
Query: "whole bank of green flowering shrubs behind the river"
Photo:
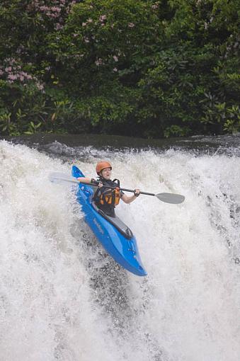
[[[237,0],[2,0],[0,131],[239,132]]]

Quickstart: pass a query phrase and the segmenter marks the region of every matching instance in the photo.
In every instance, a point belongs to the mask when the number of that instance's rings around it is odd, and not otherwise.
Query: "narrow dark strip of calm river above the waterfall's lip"
[[[185,149],[212,154],[229,153],[235,149],[240,154],[240,134],[221,136],[195,136],[188,138],[142,139],[103,134],[33,134],[21,137],[0,137],[15,144],[26,144],[29,147],[44,148],[47,144],[59,142],[67,147],[96,147],[98,149]]]

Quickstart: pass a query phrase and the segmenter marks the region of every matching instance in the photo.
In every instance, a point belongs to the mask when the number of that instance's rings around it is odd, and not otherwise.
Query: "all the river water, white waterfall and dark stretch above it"
[[[118,266],[84,224],[73,164],[113,164],[140,196],[117,213],[147,277]],[[239,361],[240,137],[0,140],[0,360]]]

